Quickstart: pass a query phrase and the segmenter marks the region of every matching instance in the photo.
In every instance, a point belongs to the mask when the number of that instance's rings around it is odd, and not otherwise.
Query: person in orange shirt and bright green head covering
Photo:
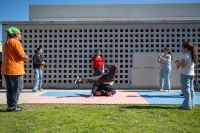
[[[28,61],[29,58],[25,55],[20,43],[22,37],[20,30],[16,27],[10,27],[5,31],[7,32],[7,41],[3,47],[1,74],[5,77],[7,87],[6,96],[8,107],[6,111],[22,111],[23,108],[19,107],[17,103],[24,87],[24,61]]]

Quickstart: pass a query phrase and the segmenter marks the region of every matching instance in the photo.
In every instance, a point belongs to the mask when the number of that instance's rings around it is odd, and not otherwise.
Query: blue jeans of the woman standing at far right
[[[181,91],[184,94],[184,101],[181,107],[192,108],[194,106],[194,76],[193,75],[180,75]]]

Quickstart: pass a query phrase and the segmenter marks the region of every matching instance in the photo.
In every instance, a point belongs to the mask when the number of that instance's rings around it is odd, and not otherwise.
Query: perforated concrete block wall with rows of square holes
[[[6,41],[5,29],[10,26],[15,26],[22,30],[22,45],[30,59],[34,55],[34,50],[42,46],[42,55],[46,62],[43,70],[46,71],[43,72],[43,88],[77,88],[77,86],[73,86],[73,80],[76,76],[92,76],[90,61],[95,54],[94,51],[97,49],[102,50],[102,56],[106,60],[106,64],[117,64],[119,66],[114,87],[135,88],[136,86],[131,84],[131,68],[134,63],[133,52],[162,52],[164,47],[169,47],[172,54],[180,53],[183,40],[189,40],[197,46],[200,45],[200,24],[192,23],[120,25],[114,23],[109,25],[94,25],[90,23],[82,25],[9,24],[3,25],[3,42]],[[85,40],[87,42],[84,42]],[[115,42],[116,40],[117,42]],[[198,47],[198,54],[200,54],[200,47]],[[30,61],[24,65],[26,70],[24,75],[25,88],[32,88],[34,83],[32,62]],[[59,70],[61,71],[59,72]],[[157,73],[157,76],[159,76],[159,73]],[[173,80],[173,78],[171,77],[170,79]],[[197,81],[200,82],[200,79],[198,78]],[[3,87],[5,87],[4,80]],[[81,88],[91,87],[91,84],[81,85]],[[148,87],[158,88],[158,86]],[[172,88],[175,87],[179,86],[172,86]]]

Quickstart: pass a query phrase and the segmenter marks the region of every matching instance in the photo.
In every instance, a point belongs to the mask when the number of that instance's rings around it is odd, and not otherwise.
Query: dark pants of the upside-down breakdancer
[[[110,71],[107,74],[103,74],[101,76],[96,76],[96,77],[81,78],[82,84],[112,82],[114,81],[116,72],[117,72],[117,65],[113,65],[110,67]]]

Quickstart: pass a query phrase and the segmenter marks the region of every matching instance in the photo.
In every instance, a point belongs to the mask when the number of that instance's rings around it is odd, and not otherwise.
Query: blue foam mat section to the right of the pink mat
[[[182,104],[181,92],[137,92],[150,104]],[[200,93],[195,92],[195,104],[200,104]]]

